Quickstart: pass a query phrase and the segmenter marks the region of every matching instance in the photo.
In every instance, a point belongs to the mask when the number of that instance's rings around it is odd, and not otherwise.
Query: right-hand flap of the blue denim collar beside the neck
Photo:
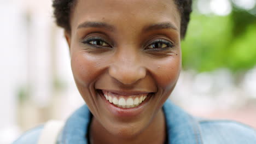
[[[202,144],[199,124],[191,115],[167,100],[163,106],[168,143],[172,144]]]

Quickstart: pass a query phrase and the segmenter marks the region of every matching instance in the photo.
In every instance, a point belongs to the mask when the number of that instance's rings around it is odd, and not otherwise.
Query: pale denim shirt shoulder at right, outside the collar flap
[[[199,120],[203,142],[209,144],[224,143],[256,143],[255,129],[234,121]]]

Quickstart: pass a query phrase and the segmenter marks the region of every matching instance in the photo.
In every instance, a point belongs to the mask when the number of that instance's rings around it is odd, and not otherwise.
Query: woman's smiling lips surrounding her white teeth
[[[149,97],[152,96],[151,93],[149,92],[138,92],[138,91],[130,91],[130,92],[124,92],[124,91],[106,91],[106,90],[101,90],[99,94],[101,95],[101,98],[104,101],[104,104],[106,104],[106,107],[110,113],[113,113],[113,115],[117,117],[133,117],[133,116],[138,116],[140,113],[143,112],[144,107],[148,104],[147,102],[149,101]],[[144,98],[141,103],[137,103],[136,105],[133,105],[131,107],[121,107],[117,103],[110,103],[109,100],[104,96],[104,93],[113,93],[114,95],[117,95],[116,97],[119,97],[120,99],[129,99],[129,98],[136,98],[139,97],[146,97]],[[141,96],[140,96],[141,95]],[[144,96],[143,96],[144,95]],[[121,104],[121,103],[119,103]]]

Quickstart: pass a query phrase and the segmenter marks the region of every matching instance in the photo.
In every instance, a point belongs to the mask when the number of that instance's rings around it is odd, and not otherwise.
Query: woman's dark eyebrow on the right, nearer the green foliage
[[[174,30],[178,31],[178,28],[176,26],[174,26],[172,23],[162,22],[162,23],[156,23],[156,24],[144,27],[143,32],[160,30],[160,29],[174,29]]]

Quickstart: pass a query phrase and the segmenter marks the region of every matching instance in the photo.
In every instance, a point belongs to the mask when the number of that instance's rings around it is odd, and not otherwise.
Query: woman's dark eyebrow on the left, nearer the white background
[[[91,22],[91,21],[83,22],[77,28],[87,28],[87,27],[104,28],[104,29],[107,29],[108,31],[115,30],[114,26],[109,25],[105,22]]]

